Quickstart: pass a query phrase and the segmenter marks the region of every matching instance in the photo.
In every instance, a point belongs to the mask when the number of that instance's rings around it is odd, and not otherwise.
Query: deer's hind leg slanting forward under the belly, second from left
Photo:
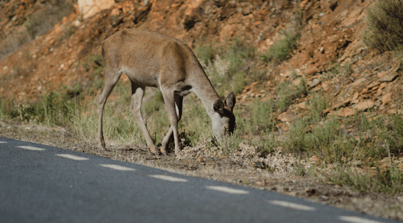
[[[137,122],[138,126],[142,131],[142,134],[144,135],[144,138],[146,139],[147,146],[149,146],[151,153],[158,154],[156,144],[154,144],[153,139],[151,138],[151,135],[149,133],[149,130],[147,130],[147,126],[144,124],[144,120],[142,118],[141,102],[142,97],[144,96],[144,90],[145,90],[144,86],[140,86],[138,84],[135,84],[135,82],[131,81],[130,110],[131,113],[133,113],[135,122]]]

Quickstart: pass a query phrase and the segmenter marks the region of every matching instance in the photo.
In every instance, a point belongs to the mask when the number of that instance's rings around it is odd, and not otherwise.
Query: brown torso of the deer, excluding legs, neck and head
[[[106,69],[121,70],[144,86],[186,82],[200,64],[182,41],[158,32],[124,29],[102,43]]]

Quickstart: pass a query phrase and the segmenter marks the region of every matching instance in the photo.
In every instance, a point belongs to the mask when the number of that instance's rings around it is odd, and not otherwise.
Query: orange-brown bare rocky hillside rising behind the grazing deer
[[[46,12],[46,7],[49,10],[56,4],[2,1],[1,13],[7,15],[0,23],[3,46],[10,35],[17,38],[32,32],[27,30],[26,19],[37,10]],[[388,112],[395,108],[393,99],[400,98],[400,65],[393,61],[379,64],[375,58],[387,55],[362,46],[360,34],[369,4],[368,0],[117,1],[112,8],[85,20],[73,5],[71,13],[50,31],[0,61],[0,93],[5,99],[33,103],[49,90],[75,84],[88,86],[93,77],[81,66],[82,61],[87,55],[99,54],[102,41],[122,28],[162,32],[182,39],[191,48],[206,43],[220,46],[237,39],[260,53],[281,39],[283,30],[298,29],[301,38],[292,57],[277,66],[268,65],[267,79],[259,83],[259,88],[245,88],[239,99],[276,97],[273,90],[277,84],[296,72],[308,81],[311,91],[324,90],[331,95],[334,108],[346,106],[338,110],[341,116],[354,114],[355,108],[375,107]],[[324,80],[322,75],[334,64],[348,66],[344,69],[347,73],[337,77],[338,82]],[[306,105],[299,101],[297,107],[304,109]],[[289,113],[279,119],[292,119]]]

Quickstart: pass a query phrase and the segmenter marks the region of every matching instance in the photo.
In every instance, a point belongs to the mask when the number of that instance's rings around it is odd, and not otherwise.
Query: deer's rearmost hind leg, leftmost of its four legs
[[[108,99],[121,75],[122,71],[120,70],[113,70],[108,68],[105,69],[104,87],[102,88],[101,93],[98,96],[98,146],[100,146],[100,150],[105,149],[104,133],[102,129],[104,106],[106,104],[106,99]]]

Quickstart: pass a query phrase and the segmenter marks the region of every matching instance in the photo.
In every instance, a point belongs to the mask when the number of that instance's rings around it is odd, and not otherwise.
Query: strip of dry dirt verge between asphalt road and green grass
[[[48,128],[38,124],[0,122],[0,136],[133,162],[184,175],[274,191],[368,215],[403,220],[402,195],[359,193],[346,186],[332,185],[326,182],[324,177],[300,177],[285,173],[286,168],[292,165],[290,162],[297,162],[298,159],[281,151],[277,151],[272,160],[279,164],[284,162],[283,170],[267,171],[256,168],[256,164],[243,162],[244,160],[236,155],[205,156],[203,159],[186,155],[192,150],[200,151],[198,148],[183,148],[183,159],[177,159],[174,153],[169,153],[168,156],[153,155],[146,146],[130,144],[115,144],[110,146],[109,151],[99,151],[95,139],[81,139],[64,128]],[[321,171],[320,166],[317,166],[317,171]]]

